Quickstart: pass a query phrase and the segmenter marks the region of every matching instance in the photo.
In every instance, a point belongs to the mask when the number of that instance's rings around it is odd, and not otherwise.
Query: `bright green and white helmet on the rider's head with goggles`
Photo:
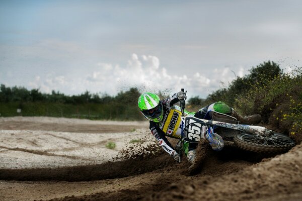
[[[138,98],[138,108],[143,116],[153,122],[163,120],[164,111],[161,99],[157,94],[145,92]]]

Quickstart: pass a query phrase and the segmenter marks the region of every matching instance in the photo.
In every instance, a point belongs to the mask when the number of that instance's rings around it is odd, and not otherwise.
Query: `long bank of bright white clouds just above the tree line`
[[[224,67],[202,70],[200,72],[188,71],[186,74],[176,74],[160,66],[160,59],[152,55],[132,54],[127,65],[99,62],[97,70],[87,72],[81,77],[71,75],[47,74],[45,77],[36,76],[29,83],[33,88],[50,93],[52,90],[66,94],[81,94],[88,90],[92,93],[106,92],[116,95],[121,90],[137,87],[142,91],[153,91],[172,94],[181,88],[188,90],[188,96],[199,95],[205,97],[208,93],[223,86],[227,86],[235,77],[243,75],[243,67]],[[234,69],[233,70],[231,70]],[[88,68],[89,69],[89,68]]]

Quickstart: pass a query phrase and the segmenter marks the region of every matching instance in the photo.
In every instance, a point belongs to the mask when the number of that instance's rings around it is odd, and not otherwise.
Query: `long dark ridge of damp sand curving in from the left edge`
[[[150,159],[129,159],[97,165],[62,168],[0,169],[0,179],[20,181],[92,181],[113,179],[151,172],[169,166],[169,156]]]

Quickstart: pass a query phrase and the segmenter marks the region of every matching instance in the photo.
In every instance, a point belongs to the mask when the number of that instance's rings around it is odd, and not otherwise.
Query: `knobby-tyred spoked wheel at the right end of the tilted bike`
[[[237,147],[253,152],[286,152],[295,146],[292,139],[280,133],[269,137],[259,134],[241,133],[234,138]]]

